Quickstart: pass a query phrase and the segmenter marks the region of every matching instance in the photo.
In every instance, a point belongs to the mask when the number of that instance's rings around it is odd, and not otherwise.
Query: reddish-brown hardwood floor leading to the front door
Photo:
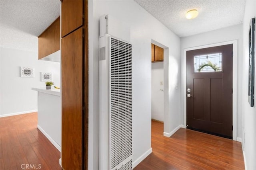
[[[152,150],[134,170],[244,170],[241,143],[189,129],[163,136],[152,121]]]

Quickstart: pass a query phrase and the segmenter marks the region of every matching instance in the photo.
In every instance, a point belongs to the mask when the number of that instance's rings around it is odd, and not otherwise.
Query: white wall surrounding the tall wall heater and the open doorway
[[[88,168],[97,169],[98,137],[98,37],[99,18],[110,14],[130,26],[132,43],[132,120],[133,165],[151,149],[151,42],[169,48],[166,69],[169,110],[164,131],[180,125],[180,38],[152,17],[133,0],[89,1],[89,150]],[[91,10],[92,9],[92,10]],[[168,69],[169,67],[169,69]]]

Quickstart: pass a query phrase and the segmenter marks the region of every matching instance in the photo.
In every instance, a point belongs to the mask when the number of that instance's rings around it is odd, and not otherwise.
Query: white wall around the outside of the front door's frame
[[[189,37],[181,38],[181,72],[182,77],[186,77],[186,63],[184,63],[184,49],[190,47],[198,47],[202,45],[210,45],[214,43],[221,43],[226,41],[237,40],[237,137],[242,138],[242,24],[234,25],[232,27],[226,27],[222,29],[217,29],[214,31],[209,31],[206,33],[201,33],[198,35],[192,35]],[[186,87],[186,82],[182,79],[182,87]],[[182,103],[182,114],[181,120],[184,120],[184,90],[181,91],[181,103]]]

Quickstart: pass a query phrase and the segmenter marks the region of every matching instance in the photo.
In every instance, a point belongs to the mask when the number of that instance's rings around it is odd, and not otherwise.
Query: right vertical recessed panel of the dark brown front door
[[[211,78],[210,83],[210,121],[223,123],[222,78]]]

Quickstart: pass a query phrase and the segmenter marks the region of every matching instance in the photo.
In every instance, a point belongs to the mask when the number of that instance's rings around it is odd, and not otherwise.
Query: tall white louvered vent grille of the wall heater
[[[132,45],[110,38],[110,167],[132,169]]]

